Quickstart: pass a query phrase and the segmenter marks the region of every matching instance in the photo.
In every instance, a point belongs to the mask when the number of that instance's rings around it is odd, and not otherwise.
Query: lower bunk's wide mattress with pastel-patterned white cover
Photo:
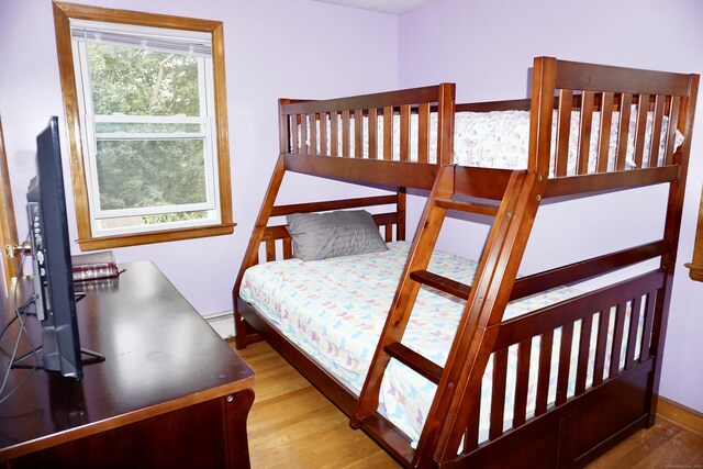
[[[303,263],[288,259],[261,264],[245,272],[239,297],[256,306],[275,327],[313,360],[334,375],[352,393],[359,395],[376,345],[402,273],[410,244],[389,243],[383,253],[336,257]],[[477,263],[435,252],[428,270],[471,283]],[[509,303],[504,320],[576,297],[579,291],[561,287]],[[417,295],[403,344],[439,366],[446,361],[465,301],[423,286]],[[627,323],[629,312],[627,313]],[[611,314],[610,330],[613,330]],[[625,331],[628,328],[626,327]],[[640,327],[641,330],[641,327]],[[592,343],[598,321],[593,322]],[[577,323],[574,337],[579,337]],[[560,333],[554,338],[553,364],[557,362]],[[572,343],[572,357],[578,353]],[[626,342],[626,340],[625,340]],[[638,340],[639,343],[639,340]],[[532,375],[527,413],[534,412],[539,337],[533,339]],[[592,345],[592,348],[594,345]],[[515,347],[512,347],[515,348]],[[610,346],[607,347],[611,348]],[[639,351],[636,350],[636,356]],[[587,386],[592,383],[594,350],[590,354]],[[624,366],[624,350],[621,354]],[[512,423],[516,350],[509,358],[505,427]],[[606,357],[607,370],[610,357]],[[555,367],[553,366],[553,369]],[[576,366],[571,366],[568,395],[573,395]],[[487,439],[490,417],[492,360],[483,377],[481,398],[481,440]],[[556,377],[549,388],[549,402],[556,398]],[[436,386],[397,360],[391,360],[379,395],[379,411],[412,440],[417,440]]]

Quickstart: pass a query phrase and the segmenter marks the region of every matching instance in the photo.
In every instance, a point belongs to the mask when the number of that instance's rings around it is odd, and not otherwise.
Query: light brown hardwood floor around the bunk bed
[[[231,343],[234,348],[234,342]],[[268,344],[239,350],[256,372],[249,413],[252,467],[397,468],[398,465]],[[589,466],[703,469],[703,417],[663,401],[657,424]]]

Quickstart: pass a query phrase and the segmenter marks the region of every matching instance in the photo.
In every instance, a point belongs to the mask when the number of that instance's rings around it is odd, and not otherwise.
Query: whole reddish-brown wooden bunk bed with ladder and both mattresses
[[[457,104],[451,83],[280,100],[281,153],[233,289],[237,347],[266,339],[406,467],[593,460],[655,422],[698,83],[537,57],[529,100]],[[277,204],[287,171],[389,194]],[[518,275],[545,201],[654,185],[667,188],[661,238]],[[409,189],[426,204],[405,241]],[[297,217],[361,208],[388,250],[298,258]],[[493,220],[476,263],[435,252],[460,212]],[[394,267],[373,277],[384,258]],[[578,288],[594,278],[605,284]]]

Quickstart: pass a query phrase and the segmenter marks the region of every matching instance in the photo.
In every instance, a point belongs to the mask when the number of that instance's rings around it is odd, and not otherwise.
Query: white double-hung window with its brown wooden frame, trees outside
[[[81,249],[232,233],[222,23],[54,13]]]

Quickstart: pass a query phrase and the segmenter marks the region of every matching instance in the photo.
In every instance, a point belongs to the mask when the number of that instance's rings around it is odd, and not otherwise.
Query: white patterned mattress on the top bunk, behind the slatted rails
[[[595,163],[598,160],[598,139],[600,135],[600,112],[593,112],[591,135],[589,142],[589,172],[594,172]],[[437,114],[432,113],[429,116],[429,163],[437,160]],[[626,168],[636,167],[635,163],[635,127],[637,120],[637,108],[633,107],[629,124],[628,124],[628,142],[626,150]],[[354,121],[354,116],[350,118]],[[577,154],[579,148],[579,121],[580,113],[574,111],[571,113],[571,122],[569,130],[569,147],[567,175],[576,175]],[[315,121],[317,129],[320,121]],[[554,152],[556,148],[556,125],[557,111],[553,118],[551,130],[551,153],[554,165]],[[611,131],[609,135],[609,164],[607,170],[615,168],[615,155],[617,150],[617,129],[620,125],[620,112],[613,112]],[[654,113],[647,113],[645,129],[645,148],[643,155],[643,166],[661,166],[666,150],[667,132],[669,119],[663,116],[661,125],[661,134],[656,136],[659,146],[658,161],[649,161],[652,144]],[[411,133],[416,132],[417,115],[411,115]],[[383,116],[378,118],[378,148],[383,148]],[[300,126],[299,126],[300,142]],[[349,136],[349,154],[355,155],[355,125],[350,124]],[[362,132],[368,136],[368,118],[364,118]],[[327,121],[327,132],[330,135],[330,121]],[[317,135],[320,131],[317,130]],[[338,135],[342,135],[342,122],[338,123]],[[417,137],[411,135],[410,160],[417,160]],[[674,133],[674,150],[683,143],[683,134],[678,130]],[[308,147],[311,146],[310,137],[306,141]],[[322,146],[321,146],[322,145]],[[331,154],[330,142],[315,142],[317,153]],[[342,142],[337,143],[337,155],[342,155]],[[455,114],[455,144],[454,144],[454,163],[460,166],[479,166],[483,168],[504,168],[504,169],[526,169],[527,154],[529,147],[529,112],[528,111],[492,111],[492,112],[458,112]],[[362,149],[364,158],[368,158],[368,148]],[[400,116],[393,116],[393,159],[400,158]],[[656,165],[655,165],[656,164]],[[550,175],[555,175],[555,168],[550,168]]]

